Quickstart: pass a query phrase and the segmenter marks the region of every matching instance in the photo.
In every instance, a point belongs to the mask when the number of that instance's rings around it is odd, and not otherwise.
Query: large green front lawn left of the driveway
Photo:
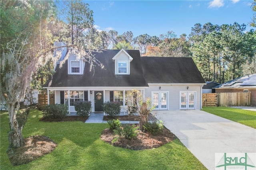
[[[44,135],[58,143],[56,149],[38,160],[12,166],[6,154],[9,131],[8,113],[0,114],[1,120],[1,170],[202,170],[200,161],[178,140],[151,150],[129,150],[114,147],[100,139],[108,124],[73,122],[41,122],[42,113],[31,109],[23,136]]]

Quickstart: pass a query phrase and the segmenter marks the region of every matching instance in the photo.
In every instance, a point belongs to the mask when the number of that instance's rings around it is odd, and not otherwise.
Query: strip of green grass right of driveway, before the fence
[[[203,107],[202,110],[256,129],[256,111],[232,107]]]

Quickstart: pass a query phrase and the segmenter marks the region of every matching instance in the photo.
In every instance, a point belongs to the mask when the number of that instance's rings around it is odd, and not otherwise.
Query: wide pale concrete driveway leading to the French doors
[[[156,118],[209,170],[215,169],[215,153],[256,152],[256,129],[205,111],[157,111]]]

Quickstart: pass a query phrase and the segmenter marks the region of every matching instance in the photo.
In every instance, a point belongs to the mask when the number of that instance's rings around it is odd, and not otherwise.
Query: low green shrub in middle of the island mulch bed
[[[125,124],[123,128],[114,129],[114,134],[118,135],[119,137],[125,137],[126,139],[132,139],[133,137],[136,137],[138,134],[139,127],[135,127],[135,125],[128,125]]]

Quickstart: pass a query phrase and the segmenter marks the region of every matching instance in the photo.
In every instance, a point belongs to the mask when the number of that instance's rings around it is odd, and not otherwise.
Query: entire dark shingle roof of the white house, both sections
[[[68,74],[68,62],[56,73],[45,87],[147,87],[148,83],[205,83],[192,58],[184,57],[140,57],[138,50],[126,50],[133,58],[130,75],[115,75],[112,58],[120,50],[106,50],[94,56],[104,69],[95,66],[90,72],[86,62],[83,75]],[[94,74],[94,75],[93,75]]]

